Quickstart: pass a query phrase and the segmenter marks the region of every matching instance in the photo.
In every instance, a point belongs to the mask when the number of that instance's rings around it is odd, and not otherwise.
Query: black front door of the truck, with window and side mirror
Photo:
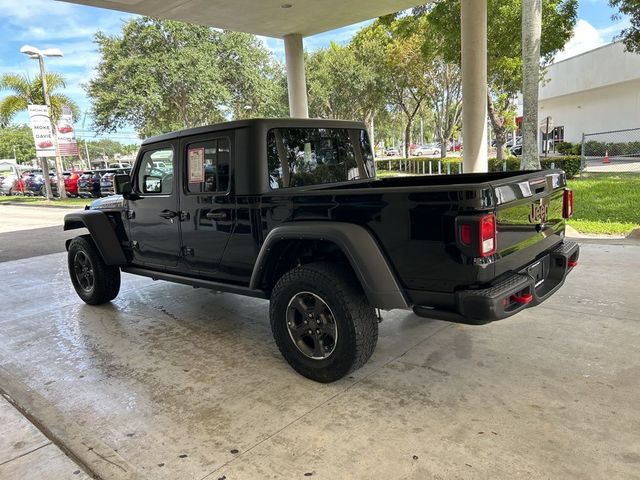
[[[139,198],[129,200],[127,212],[133,262],[174,270],[180,258],[176,152],[172,143],[143,148],[132,173],[133,193]]]

